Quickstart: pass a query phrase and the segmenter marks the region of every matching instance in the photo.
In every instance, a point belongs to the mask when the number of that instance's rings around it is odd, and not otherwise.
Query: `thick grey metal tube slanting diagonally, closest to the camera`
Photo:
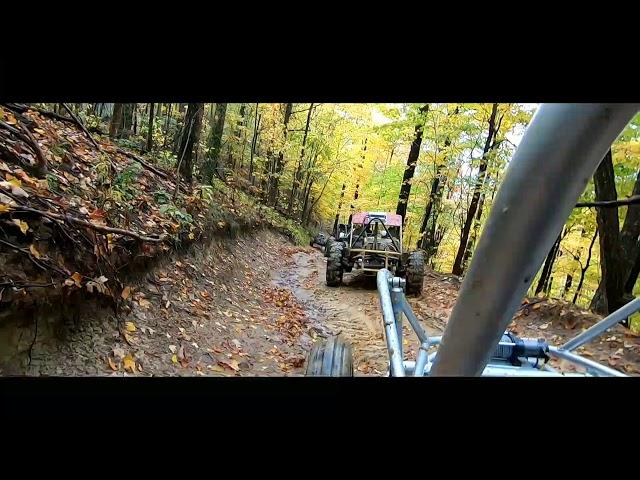
[[[478,376],[611,144],[640,104],[543,104],[477,244],[431,370]]]

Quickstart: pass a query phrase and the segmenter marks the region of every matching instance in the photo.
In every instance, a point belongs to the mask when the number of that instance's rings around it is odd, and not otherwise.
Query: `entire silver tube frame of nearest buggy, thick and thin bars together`
[[[640,104],[543,104],[518,146],[496,195],[462,282],[444,335],[429,337],[404,296],[404,280],[377,274],[392,376],[584,376],[560,373],[541,356],[580,365],[587,375],[626,376],[573,353],[640,310],[640,298],[561,347],[534,353],[526,340],[505,341],[505,331],[558,232],[607,150]],[[421,342],[415,362],[404,361],[402,317]],[[436,352],[429,348],[438,346]],[[518,365],[497,352],[520,351]]]

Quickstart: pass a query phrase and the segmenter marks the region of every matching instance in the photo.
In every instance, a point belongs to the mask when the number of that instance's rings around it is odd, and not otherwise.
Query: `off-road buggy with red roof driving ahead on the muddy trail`
[[[359,212],[345,232],[326,244],[326,280],[330,287],[342,283],[344,272],[360,270],[376,275],[385,268],[406,279],[407,293],[419,294],[424,278],[422,251],[402,250],[402,217],[395,213]]]

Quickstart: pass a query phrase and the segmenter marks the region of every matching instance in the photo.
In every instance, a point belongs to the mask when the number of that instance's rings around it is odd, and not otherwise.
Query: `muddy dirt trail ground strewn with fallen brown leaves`
[[[126,287],[119,318],[87,312],[59,339],[35,344],[29,365],[2,374],[298,376],[317,337],[342,334],[353,344],[357,376],[385,375],[375,280],[345,275],[342,287],[330,288],[324,266],[321,252],[267,230],[175,253]],[[422,296],[409,299],[429,334],[443,332],[459,284],[429,272]],[[511,330],[560,344],[597,319],[566,302],[532,301]],[[404,344],[406,357],[415,358],[417,338],[406,325]],[[640,373],[640,338],[622,327],[579,352]]]

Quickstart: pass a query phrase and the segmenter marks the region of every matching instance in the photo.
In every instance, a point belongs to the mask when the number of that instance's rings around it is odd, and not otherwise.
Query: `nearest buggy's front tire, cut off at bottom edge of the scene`
[[[308,377],[353,377],[351,345],[340,337],[316,342],[307,358]]]

